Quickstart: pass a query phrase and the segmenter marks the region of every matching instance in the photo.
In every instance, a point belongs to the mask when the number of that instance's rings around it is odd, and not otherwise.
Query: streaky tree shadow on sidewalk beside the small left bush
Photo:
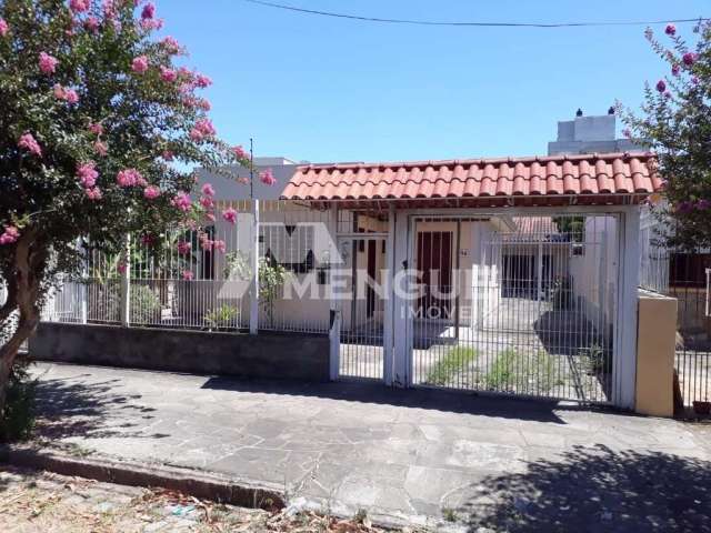
[[[138,403],[140,394],[118,392],[121,380],[97,383],[86,382],[82,378],[91,378],[91,374],[69,379],[40,378],[37,383],[36,436],[49,440],[70,436],[168,436],[133,431],[138,424],[132,420],[150,420],[154,409]]]

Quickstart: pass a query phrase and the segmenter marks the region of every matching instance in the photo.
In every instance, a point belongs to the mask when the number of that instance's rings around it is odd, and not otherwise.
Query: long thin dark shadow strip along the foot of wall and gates
[[[247,381],[231,378],[211,378],[203,389],[244,393],[322,398],[344,402],[371,403],[399,408],[424,409],[460,414],[503,419],[532,420],[563,424],[555,414],[561,410],[582,408],[563,406],[554,401],[531,401],[514,398],[492,398],[458,391],[427,389],[393,389],[379,383],[296,383],[289,381]],[[590,408],[585,408],[590,411]]]

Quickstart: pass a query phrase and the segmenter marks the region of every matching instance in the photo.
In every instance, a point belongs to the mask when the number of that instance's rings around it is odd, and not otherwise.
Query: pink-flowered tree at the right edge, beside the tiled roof
[[[641,113],[622,110],[624,134],[658,154],[665,201],[653,209],[668,222],[668,244],[711,247],[711,24],[687,37],[673,24],[645,36],[669,70],[647,83]]]

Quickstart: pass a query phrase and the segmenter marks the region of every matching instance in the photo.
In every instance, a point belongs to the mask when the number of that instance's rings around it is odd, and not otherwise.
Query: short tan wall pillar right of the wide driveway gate
[[[640,291],[634,410],[653,416],[674,414],[673,375],[677,300]]]

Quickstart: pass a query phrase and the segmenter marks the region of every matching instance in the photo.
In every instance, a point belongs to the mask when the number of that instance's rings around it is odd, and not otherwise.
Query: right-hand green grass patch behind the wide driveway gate
[[[555,384],[555,363],[548,352],[533,354],[515,349],[499,352],[491,370],[484,376],[488,389],[515,391],[522,394],[541,394]]]

